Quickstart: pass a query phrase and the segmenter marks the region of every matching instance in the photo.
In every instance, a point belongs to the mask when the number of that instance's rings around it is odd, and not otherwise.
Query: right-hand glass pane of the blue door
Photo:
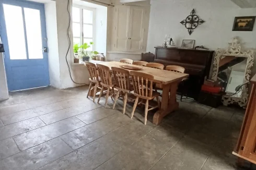
[[[28,58],[43,58],[40,10],[24,8],[24,14],[28,43]]]

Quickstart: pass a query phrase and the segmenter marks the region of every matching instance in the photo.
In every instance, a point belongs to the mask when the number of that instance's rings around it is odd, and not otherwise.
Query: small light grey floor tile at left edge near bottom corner
[[[14,142],[13,138],[8,138],[0,141],[0,160],[18,152],[19,149],[16,143]]]

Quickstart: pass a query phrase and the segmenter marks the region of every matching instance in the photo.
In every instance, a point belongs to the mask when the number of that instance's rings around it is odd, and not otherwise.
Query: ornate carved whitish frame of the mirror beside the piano
[[[222,56],[235,56],[235,57],[247,57],[247,64],[246,64],[246,70],[245,70],[245,78],[243,79],[243,83],[247,83],[250,81],[251,76],[251,67],[253,65],[254,60],[254,50],[241,50],[241,42],[238,40],[238,38],[234,38],[232,42],[229,43],[229,46],[227,49],[218,48],[217,51],[215,51],[214,56],[214,62],[213,62],[213,74],[212,74],[212,80],[217,80],[218,77],[218,68],[219,68],[219,60]],[[222,102],[225,106],[232,103],[237,103],[241,107],[245,107],[247,105],[248,101],[248,84],[245,84],[245,86],[242,86],[242,93],[240,95],[240,98],[234,97],[234,96],[228,96],[223,95]]]

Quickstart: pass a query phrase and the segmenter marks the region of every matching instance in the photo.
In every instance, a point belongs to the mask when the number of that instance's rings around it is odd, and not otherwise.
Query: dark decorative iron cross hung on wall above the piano
[[[204,23],[205,21],[202,19],[199,19],[197,15],[195,15],[195,9],[193,9],[190,13],[190,15],[182,20],[180,23],[182,25],[185,25],[185,28],[188,29],[189,34],[191,35],[193,30],[198,26]]]

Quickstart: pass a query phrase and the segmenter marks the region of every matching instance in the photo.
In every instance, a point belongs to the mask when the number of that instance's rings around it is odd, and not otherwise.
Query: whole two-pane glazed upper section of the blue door
[[[42,59],[40,10],[24,7],[22,12],[20,6],[3,7],[10,59]]]

